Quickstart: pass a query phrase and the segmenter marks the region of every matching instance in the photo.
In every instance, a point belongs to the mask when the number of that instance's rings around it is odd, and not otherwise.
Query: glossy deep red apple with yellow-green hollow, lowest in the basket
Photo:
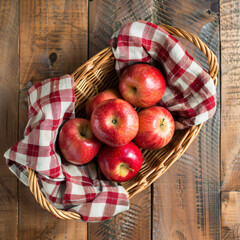
[[[142,162],[142,153],[133,142],[118,148],[105,145],[98,156],[103,175],[116,182],[132,179],[141,169]]]

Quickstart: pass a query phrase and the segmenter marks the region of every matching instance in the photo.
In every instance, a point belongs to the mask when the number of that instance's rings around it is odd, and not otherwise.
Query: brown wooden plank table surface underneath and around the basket
[[[0,239],[240,239],[239,16],[239,0],[1,0]],[[58,220],[3,158],[23,136],[26,91],[72,73],[138,19],[181,27],[217,55],[217,112],[183,157],[131,199],[129,211],[100,223]],[[206,58],[183,44],[207,69]]]

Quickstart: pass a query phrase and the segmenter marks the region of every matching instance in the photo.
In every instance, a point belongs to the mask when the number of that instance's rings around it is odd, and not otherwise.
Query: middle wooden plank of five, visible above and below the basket
[[[151,1],[91,1],[89,57],[110,44],[114,31],[137,19],[151,20]],[[89,240],[151,239],[151,188],[130,201],[130,209],[116,217],[88,225]]]

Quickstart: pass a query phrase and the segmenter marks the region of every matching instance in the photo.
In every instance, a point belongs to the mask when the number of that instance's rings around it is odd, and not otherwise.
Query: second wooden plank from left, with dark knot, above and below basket
[[[45,78],[72,73],[87,59],[88,1],[21,1],[20,136],[27,122],[26,90]],[[62,221],[41,209],[19,185],[19,239],[87,239],[87,224]]]

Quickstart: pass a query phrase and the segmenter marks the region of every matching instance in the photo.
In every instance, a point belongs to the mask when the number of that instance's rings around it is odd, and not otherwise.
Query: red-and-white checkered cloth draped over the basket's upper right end
[[[119,74],[136,62],[161,64],[167,89],[158,105],[173,114],[176,129],[198,125],[215,113],[216,89],[212,78],[161,27],[144,21],[129,23],[113,34],[111,46]]]

